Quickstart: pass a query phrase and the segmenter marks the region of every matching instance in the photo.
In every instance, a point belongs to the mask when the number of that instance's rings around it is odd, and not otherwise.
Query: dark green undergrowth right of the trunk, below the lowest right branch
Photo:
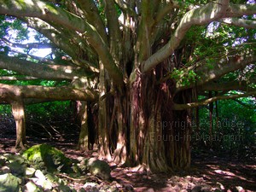
[[[205,146],[238,157],[254,153],[256,108],[252,106],[255,104],[253,98],[241,98],[238,102],[219,101],[218,117],[216,113],[212,116],[212,143],[209,135],[209,110],[201,108],[201,131],[193,136],[197,147]]]

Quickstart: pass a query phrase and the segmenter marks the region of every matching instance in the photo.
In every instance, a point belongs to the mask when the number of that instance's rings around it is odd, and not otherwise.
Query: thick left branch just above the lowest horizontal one
[[[0,68],[18,72],[38,79],[73,80],[75,77],[90,76],[82,67],[45,65],[15,57],[0,55]]]

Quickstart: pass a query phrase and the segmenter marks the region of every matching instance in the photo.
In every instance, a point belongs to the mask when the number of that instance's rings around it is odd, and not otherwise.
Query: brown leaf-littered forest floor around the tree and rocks
[[[67,131],[49,137],[46,131],[27,131],[30,145],[48,143],[71,159],[96,156],[94,152],[82,153],[76,150],[78,140],[77,131]],[[75,132],[75,133],[74,133]],[[43,134],[44,133],[44,134]],[[52,135],[53,136],[53,135]],[[0,154],[14,153],[15,129],[8,129],[0,125]],[[110,164],[113,181],[125,186],[127,191],[256,191],[256,162],[255,159],[245,160],[231,158],[226,155],[216,155],[214,151],[192,150],[191,169],[188,172],[152,173],[139,172],[136,168],[122,168]],[[103,181],[102,181],[103,182]],[[205,189],[197,189],[195,186]],[[75,189],[82,187],[80,183],[73,183]],[[215,190],[214,190],[215,189]],[[222,190],[217,190],[222,189]]]

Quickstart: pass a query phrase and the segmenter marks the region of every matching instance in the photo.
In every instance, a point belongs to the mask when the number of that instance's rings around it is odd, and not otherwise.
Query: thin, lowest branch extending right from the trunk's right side
[[[173,110],[186,110],[189,108],[196,108],[203,105],[208,105],[211,102],[216,102],[218,100],[226,100],[226,99],[236,99],[241,97],[247,96],[256,96],[256,91],[247,92],[244,94],[236,94],[236,95],[229,95],[229,96],[213,96],[212,98],[200,101],[200,102],[190,102],[186,104],[177,104],[173,103]]]

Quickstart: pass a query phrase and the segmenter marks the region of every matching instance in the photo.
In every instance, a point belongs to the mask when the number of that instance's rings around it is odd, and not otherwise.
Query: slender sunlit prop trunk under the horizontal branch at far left
[[[15,148],[26,148],[26,121],[24,103],[22,100],[11,102],[12,113],[16,124],[16,144]]]

